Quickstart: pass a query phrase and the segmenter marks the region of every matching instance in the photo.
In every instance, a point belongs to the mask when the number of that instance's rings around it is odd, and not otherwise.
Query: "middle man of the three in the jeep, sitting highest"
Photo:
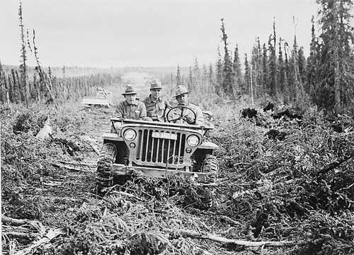
[[[161,89],[160,81],[152,81],[150,83],[150,95],[142,101],[147,107],[147,117],[152,118],[153,121],[165,121],[166,109],[171,108],[169,102],[160,96]]]

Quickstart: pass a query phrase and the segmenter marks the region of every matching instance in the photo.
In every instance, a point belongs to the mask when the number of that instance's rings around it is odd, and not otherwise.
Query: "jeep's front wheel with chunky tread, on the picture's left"
[[[110,166],[115,162],[117,149],[112,143],[105,143],[102,146],[100,158],[97,162],[96,194],[103,196],[103,189],[113,185],[113,175]]]

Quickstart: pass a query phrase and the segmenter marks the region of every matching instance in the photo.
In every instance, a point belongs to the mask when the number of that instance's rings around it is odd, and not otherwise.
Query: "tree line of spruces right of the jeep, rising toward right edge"
[[[200,93],[210,91],[220,97],[235,100],[244,95],[252,99],[273,97],[294,109],[316,104],[327,114],[354,110],[354,37],[353,0],[317,0],[317,25],[312,17],[312,40],[309,57],[297,43],[297,35],[290,44],[273,33],[268,42],[256,38],[251,56],[241,57],[236,45],[229,49],[224,19],[221,20],[222,49],[217,49],[215,65],[189,67],[189,74],[181,76],[180,68],[173,83],[188,85]],[[319,28],[319,35],[316,35]],[[241,64],[241,61],[243,63]],[[171,78],[171,80],[173,80]]]

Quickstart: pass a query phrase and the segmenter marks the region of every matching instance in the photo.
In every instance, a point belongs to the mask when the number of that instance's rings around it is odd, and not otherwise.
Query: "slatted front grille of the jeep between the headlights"
[[[176,134],[177,139],[154,138],[153,132]],[[176,131],[156,131],[151,129],[139,129],[136,160],[142,163],[154,163],[164,165],[168,162],[169,167],[183,164],[185,150],[185,134]]]

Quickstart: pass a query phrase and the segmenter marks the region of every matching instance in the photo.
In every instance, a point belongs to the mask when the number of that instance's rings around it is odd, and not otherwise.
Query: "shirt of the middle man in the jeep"
[[[154,121],[165,121],[166,109],[171,108],[169,102],[167,102],[164,97],[159,97],[159,99],[154,102],[151,95],[146,97],[142,102],[147,107],[147,117],[152,118]]]

